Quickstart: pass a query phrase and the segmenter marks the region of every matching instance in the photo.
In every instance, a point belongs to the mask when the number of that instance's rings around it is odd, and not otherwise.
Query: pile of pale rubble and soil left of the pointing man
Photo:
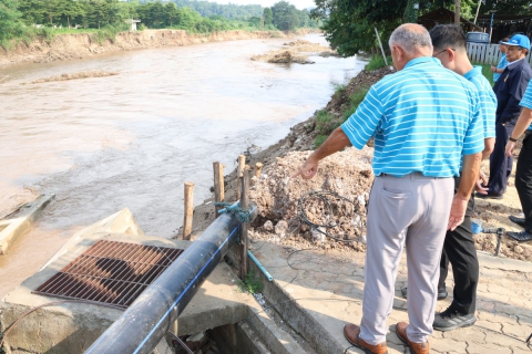
[[[307,240],[327,249],[364,251],[372,149],[346,148],[321,160],[313,179],[290,178],[309,154],[277,157],[254,180],[250,199],[259,215],[252,239],[288,244]]]

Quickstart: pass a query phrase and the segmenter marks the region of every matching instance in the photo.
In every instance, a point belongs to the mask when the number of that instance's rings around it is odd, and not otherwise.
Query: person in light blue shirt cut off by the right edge
[[[507,143],[507,156],[513,156],[513,148],[521,134],[526,134],[518,157],[515,169],[515,189],[523,209],[524,218],[510,216],[510,220],[522,226],[523,231],[508,231],[507,235],[519,242],[532,240],[532,81],[529,82],[523,98],[520,102],[523,112],[519,116],[512,134]]]

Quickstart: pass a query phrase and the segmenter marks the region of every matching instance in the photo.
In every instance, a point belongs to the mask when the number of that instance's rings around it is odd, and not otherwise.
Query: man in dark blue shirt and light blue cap
[[[504,153],[508,137],[511,136],[515,122],[521,114],[519,105],[524,95],[532,70],[525,60],[530,51],[530,40],[523,34],[513,35],[505,42],[508,66],[497,81],[493,91],[497,95],[495,146],[490,156],[490,179],[488,194],[477,194],[480,198],[502,199],[507,191],[508,177],[512,171],[513,157]]]

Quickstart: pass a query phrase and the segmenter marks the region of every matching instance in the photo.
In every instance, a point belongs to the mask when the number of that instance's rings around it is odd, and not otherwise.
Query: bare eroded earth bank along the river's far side
[[[238,41],[249,39],[287,38],[310,33],[299,30],[286,34],[280,31],[224,31],[211,34],[191,34],[184,30],[144,30],[121,32],[114,40],[96,41],[90,33],[60,34],[53,40],[38,39],[30,44],[21,42],[12,50],[0,49],[0,67],[18,63],[48,63],[84,59],[102,53],[184,46],[208,42]]]

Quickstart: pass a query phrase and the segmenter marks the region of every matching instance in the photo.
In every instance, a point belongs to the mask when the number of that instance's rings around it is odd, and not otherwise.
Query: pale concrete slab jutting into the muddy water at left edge
[[[17,211],[0,220],[0,254],[6,254],[11,242],[24,233],[39,217],[54,195],[44,195],[21,206]]]

